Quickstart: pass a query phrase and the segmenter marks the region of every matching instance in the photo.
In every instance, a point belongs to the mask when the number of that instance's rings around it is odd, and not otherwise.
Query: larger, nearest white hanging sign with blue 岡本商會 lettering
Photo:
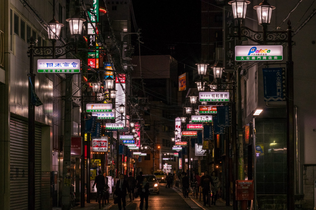
[[[79,59],[39,59],[37,73],[80,73]]]

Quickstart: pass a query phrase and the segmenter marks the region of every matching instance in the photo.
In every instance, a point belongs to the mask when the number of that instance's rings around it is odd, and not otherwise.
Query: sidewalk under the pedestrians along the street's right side
[[[173,186],[174,190],[178,190],[180,195],[182,196],[182,189],[180,187],[175,187]],[[187,198],[184,198],[187,199]],[[200,201],[200,194],[197,199],[193,199],[192,197],[192,192],[189,193],[189,199],[191,199],[193,202],[195,202],[199,207],[201,207],[204,210],[209,210],[209,209],[223,209],[223,210],[232,210],[233,209],[233,204],[230,202],[229,206],[226,206],[226,201],[222,199],[218,199],[216,201],[216,206],[213,205],[206,205],[203,206],[203,195],[201,195],[201,201]]]

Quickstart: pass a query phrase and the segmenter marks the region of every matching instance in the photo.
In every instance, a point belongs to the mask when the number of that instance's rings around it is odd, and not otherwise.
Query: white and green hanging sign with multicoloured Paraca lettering
[[[235,46],[236,61],[275,61],[283,60],[282,45],[242,45]]]

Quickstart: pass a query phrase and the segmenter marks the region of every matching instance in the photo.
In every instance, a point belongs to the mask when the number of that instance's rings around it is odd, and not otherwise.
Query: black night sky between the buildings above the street
[[[171,54],[179,68],[195,63],[201,57],[201,6],[197,0],[133,0],[136,24],[141,28],[141,55]],[[132,28],[133,28],[132,23]],[[134,43],[138,55],[138,44]],[[182,65],[181,65],[182,64]]]

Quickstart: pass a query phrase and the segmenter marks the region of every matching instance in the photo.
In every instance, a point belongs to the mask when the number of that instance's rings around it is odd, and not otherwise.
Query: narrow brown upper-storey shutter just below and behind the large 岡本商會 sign
[[[63,80],[53,75],[53,150],[62,151],[61,139],[63,135]]]

